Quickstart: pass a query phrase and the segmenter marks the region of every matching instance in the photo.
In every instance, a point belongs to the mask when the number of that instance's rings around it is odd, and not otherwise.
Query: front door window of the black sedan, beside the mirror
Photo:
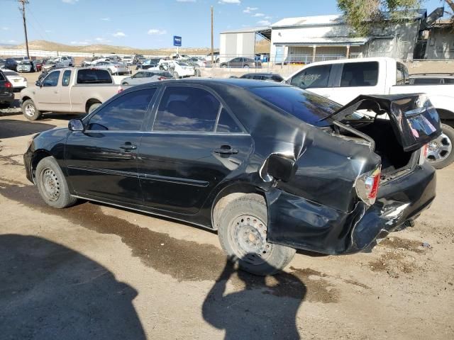
[[[89,119],[87,130],[138,131],[156,88],[119,96]]]

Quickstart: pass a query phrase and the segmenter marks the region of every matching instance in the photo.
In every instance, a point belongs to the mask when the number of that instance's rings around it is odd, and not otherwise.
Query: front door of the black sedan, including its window
[[[143,203],[137,155],[155,92],[150,88],[118,96],[84,119],[84,132],[72,132],[67,138],[67,171],[78,195]]]

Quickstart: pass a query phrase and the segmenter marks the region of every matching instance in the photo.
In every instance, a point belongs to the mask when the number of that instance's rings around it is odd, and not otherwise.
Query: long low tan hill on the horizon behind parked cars
[[[25,44],[12,45],[9,48],[23,50],[26,48]],[[44,50],[44,51],[61,51],[61,52],[85,52],[85,53],[118,53],[125,55],[133,55],[138,53],[140,55],[170,55],[175,52],[175,47],[160,48],[160,49],[141,49],[128,46],[114,46],[114,45],[65,45],[58,42],[50,42],[46,40],[33,40],[28,42],[30,50]],[[185,47],[179,48],[179,53],[183,55],[206,55],[210,52],[209,48],[205,47]]]

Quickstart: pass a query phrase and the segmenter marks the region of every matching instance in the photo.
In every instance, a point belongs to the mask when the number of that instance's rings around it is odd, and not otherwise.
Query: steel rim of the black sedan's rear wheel
[[[267,242],[267,225],[253,215],[239,215],[228,228],[235,255],[250,264],[266,263],[272,251],[272,244]]]

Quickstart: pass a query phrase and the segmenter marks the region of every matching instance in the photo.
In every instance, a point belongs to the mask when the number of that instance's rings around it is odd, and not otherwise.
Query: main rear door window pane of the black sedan
[[[157,109],[154,131],[213,132],[221,103],[204,89],[172,86]]]

